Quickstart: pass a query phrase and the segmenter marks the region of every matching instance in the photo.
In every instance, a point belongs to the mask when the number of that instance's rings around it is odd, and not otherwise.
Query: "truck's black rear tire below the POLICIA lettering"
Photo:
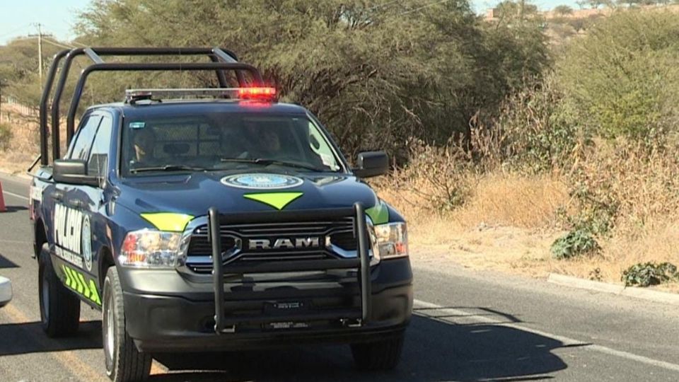
[[[64,287],[57,277],[47,245],[40,250],[38,261],[37,284],[42,330],[47,337],[74,335],[80,323],[80,299]]]

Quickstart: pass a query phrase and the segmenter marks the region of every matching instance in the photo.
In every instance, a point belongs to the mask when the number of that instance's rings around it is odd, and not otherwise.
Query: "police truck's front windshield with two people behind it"
[[[278,166],[340,171],[323,132],[306,116],[216,113],[126,119],[122,173]]]

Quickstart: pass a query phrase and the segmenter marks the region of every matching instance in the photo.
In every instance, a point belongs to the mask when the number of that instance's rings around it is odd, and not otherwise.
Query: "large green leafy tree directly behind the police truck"
[[[310,108],[354,154],[383,147],[404,158],[409,137],[468,134],[548,61],[535,23],[486,25],[466,1],[95,0],[79,42],[123,46],[223,46],[260,67],[283,100]],[[528,9],[530,7],[526,7]],[[532,9],[532,8],[530,8]],[[204,83],[144,74],[93,79],[100,102],[128,86]]]

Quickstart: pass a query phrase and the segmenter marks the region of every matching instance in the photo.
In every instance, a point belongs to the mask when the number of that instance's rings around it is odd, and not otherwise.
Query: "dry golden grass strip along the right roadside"
[[[426,197],[435,187],[407,171],[407,182],[383,181],[378,192],[407,216],[416,263],[455,262],[531,277],[556,272],[620,284],[622,271],[639,262],[679,265],[679,155],[668,150],[598,142],[576,158],[571,175],[462,171],[455,178],[468,195],[446,212]],[[586,200],[569,197],[575,185],[587,190]],[[553,259],[550,246],[568,228],[557,210],[579,214],[589,199],[617,205],[615,228],[598,237],[602,250]],[[658,289],[679,291],[679,284]]]

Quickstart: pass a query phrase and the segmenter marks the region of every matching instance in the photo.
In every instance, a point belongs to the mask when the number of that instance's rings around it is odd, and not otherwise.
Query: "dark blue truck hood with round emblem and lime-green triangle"
[[[192,173],[126,178],[116,202],[137,214],[207,215],[352,207],[378,203],[377,196],[353,175],[338,173]]]

